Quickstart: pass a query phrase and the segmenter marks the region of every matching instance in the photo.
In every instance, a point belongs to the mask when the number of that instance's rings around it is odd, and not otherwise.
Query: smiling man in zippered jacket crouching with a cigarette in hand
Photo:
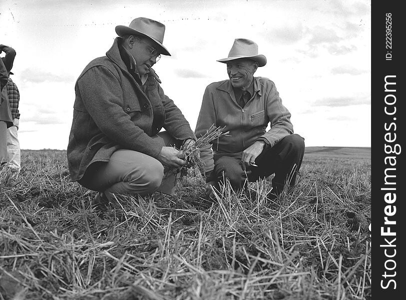
[[[212,124],[225,126],[229,134],[200,149],[206,193],[212,195],[212,186],[223,178],[239,190],[248,181],[275,173],[268,195],[275,199],[285,186],[295,184],[304,138],[293,133],[291,114],[282,104],[275,83],[254,76],[257,68],[267,63],[254,41],[235,39],[228,57],[217,61],[227,65],[229,79],[206,87],[195,134],[201,136]],[[269,124],[271,128],[266,131]]]

